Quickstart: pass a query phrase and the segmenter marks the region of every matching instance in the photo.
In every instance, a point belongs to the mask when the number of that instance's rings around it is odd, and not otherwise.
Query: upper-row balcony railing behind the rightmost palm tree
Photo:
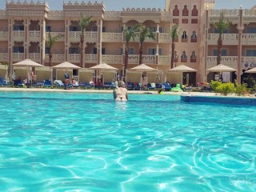
[[[238,34],[222,34],[223,45],[238,45]],[[208,45],[217,45],[218,34],[208,34]]]

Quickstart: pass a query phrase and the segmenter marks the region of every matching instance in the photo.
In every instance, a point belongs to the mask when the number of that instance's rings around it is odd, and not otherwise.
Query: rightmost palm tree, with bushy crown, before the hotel
[[[218,30],[218,54],[217,54],[217,66],[221,64],[222,60],[222,34],[230,26],[230,21],[224,18],[224,13],[222,12],[218,18],[218,22],[214,23],[214,27]]]

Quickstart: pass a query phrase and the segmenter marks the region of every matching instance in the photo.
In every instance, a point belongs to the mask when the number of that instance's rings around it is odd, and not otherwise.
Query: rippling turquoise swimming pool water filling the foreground
[[[255,191],[256,107],[0,92],[0,191]]]

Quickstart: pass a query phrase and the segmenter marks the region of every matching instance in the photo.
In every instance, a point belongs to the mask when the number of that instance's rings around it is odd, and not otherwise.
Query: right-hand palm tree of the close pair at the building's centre
[[[142,64],[142,46],[143,46],[143,43],[145,42],[145,39],[146,38],[152,38],[152,39],[155,39],[154,38],[154,32],[153,30],[150,28],[150,27],[147,27],[147,26],[140,26],[140,34],[139,34],[139,65]]]

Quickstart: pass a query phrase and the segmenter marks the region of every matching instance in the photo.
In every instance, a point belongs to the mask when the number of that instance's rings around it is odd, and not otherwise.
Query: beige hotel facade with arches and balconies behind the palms
[[[81,15],[93,16],[93,22],[86,28],[82,49],[84,68],[106,62],[122,74],[125,48],[122,29],[141,23],[154,28],[155,33],[155,40],[146,39],[143,45],[143,63],[162,71],[162,82],[176,83],[180,80],[179,74],[166,74],[166,70],[170,69],[169,31],[179,23],[181,31],[175,43],[175,66],[183,64],[198,70],[191,77],[191,83],[204,82],[206,69],[217,64],[218,33],[212,23],[224,12],[232,25],[222,35],[222,64],[235,69],[241,67],[241,70],[256,66],[256,10],[243,10],[242,7],[214,10],[214,0],[166,0],[165,6],[165,10],[108,11],[102,3],[78,1],[63,2],[63,10],[50,10],[46,2],[6,2],[6,10],[0,10],[0,62],[12,64],[30,58],[48,66],[47,36],[50,32],[64,35],[54,45],[53,65],[68,61],[79,66],[81,32],[78,21]],[[129,46],[128,68],[131,68],[138,65],[138,37]],[[130,80],[135,81],[137,76],[134,74],[134,79]],[[149,74],[149,79],[154,81],[154,74]]]

